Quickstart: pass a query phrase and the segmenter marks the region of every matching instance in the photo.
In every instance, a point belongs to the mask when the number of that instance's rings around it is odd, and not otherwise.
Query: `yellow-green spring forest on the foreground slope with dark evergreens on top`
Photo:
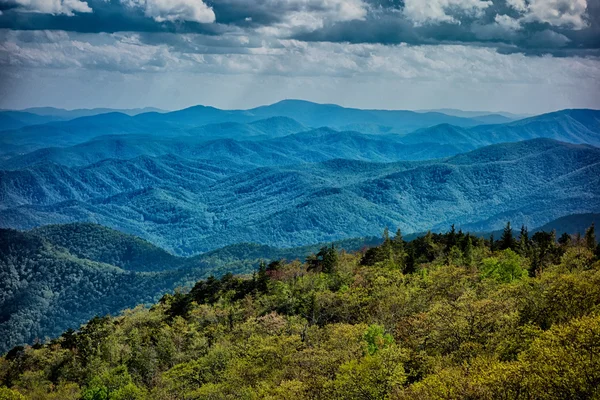
[[[0,399],[599,398],[594,226],[513,232],[386,230],[363,251],[209,276],[12,348]]]

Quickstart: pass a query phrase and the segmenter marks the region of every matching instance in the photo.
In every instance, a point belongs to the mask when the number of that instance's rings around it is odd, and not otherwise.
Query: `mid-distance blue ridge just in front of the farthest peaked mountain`
[[[273,126],[272,122],[282,122],[277,129],[269,133],[260,133],[262,125]],[[216,125],[202,127],[203,133],[176,138],[157,138],[149,135],[115,135],[100,137],[70,147],[49,147],[19,156],[0,160],[0,169],[17,170],[44,163],[66,166],[86,166],[101,160],[132,159],[142,155],[163,156],[177,154],[190,160],[213,160],[260,167],[290,165],[305,162],[320,162],[334,158],[392,162],[400,160],[425,160],[448,157],[472,148],[470,145],[457,146],[437,143],[404,144],[399,135],[365,135],[357,132],[338,132],[329,128],[320,128],[300,132],[284,137],[287,133],[300,128],[295,123],[282,119],[260,120],[251,124],[234,125],[236,130],[227,130],[239,134],[272,135],[272,139],[258,140],[258,136],[241,137],[248,140],[228,138],[212,139]],[[258,127],[257,127],[258,125]],[[242,129],[243,128],[243,129]],[[247,129],[246,129],[247,128]],[[261,128],[262,129],[262,128]],[[210,137],[207,131],[213,132]]]

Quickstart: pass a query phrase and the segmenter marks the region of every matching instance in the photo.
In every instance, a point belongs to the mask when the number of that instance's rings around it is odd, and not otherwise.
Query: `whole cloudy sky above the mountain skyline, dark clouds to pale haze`
[[[600,109],[600,0],[0,0],[0,108]]]

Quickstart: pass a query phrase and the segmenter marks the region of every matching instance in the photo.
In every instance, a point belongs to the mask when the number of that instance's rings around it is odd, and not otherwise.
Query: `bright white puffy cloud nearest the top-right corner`
[[[507,0],[507,3],[522,14],[523,22],[546,22],[576,30],[588,26],[587,0]]]

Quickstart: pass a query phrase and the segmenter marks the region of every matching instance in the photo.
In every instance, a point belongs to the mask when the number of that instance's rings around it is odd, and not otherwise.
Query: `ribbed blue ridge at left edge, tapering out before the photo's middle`
[[[0,171],[0,208],[86,201],[161,185],[200,191],[242,170],[233,163],[219,166],[173,155],[105,160],[81,168],[46,163],[29,169]]]

